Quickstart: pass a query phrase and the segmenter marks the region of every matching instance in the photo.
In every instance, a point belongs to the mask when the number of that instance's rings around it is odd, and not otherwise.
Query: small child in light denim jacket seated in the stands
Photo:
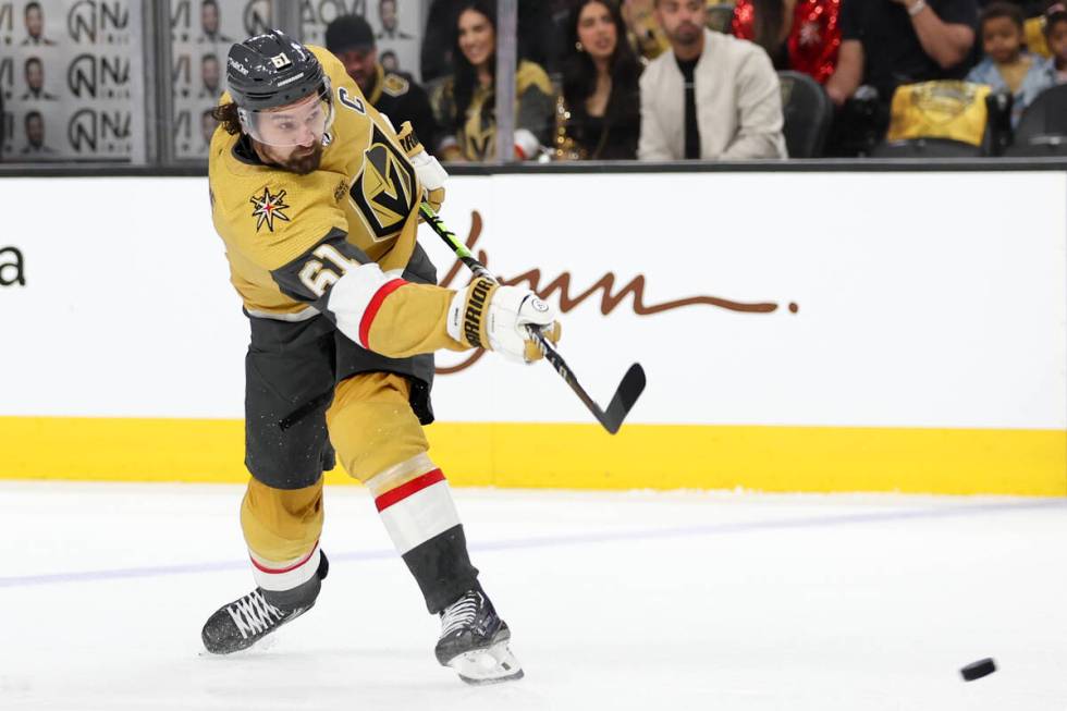
[[[1011,95],[1011,125],[1038,95],[1055,84],[1052,62],[1022,49],[1022,11],[1018,5],[993,2],[982,11],[979,35],[985,59],[967,75],[968,82],[985,84]]]

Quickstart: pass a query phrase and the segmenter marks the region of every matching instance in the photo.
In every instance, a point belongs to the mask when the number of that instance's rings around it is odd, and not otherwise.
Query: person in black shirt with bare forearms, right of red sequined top
[[[826,93],[842,106],[861,84],[885,108],[902,84],[962,78],[974,45],[976,0],[842,0],[842,45]]]

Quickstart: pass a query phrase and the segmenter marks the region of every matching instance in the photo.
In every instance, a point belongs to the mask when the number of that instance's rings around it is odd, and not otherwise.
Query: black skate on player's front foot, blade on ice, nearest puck
[[[470,590],[441,612],[438,661],[467,684],[523,678],[523,667],[507,642],[512,634],[481,590]]]

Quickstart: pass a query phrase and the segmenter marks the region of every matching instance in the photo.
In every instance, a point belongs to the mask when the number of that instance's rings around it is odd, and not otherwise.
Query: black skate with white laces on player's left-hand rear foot
[[[316,576],[296,590],[281,593],[291,600],[299,600],[294,604],[271,604],[263,597],[262,588],[256,588],[248,594],[237,598],[228,605],[219,608],[208,617],[200,632],[204,646],[212,654],[229,654],[248,649],[260,639],[274,632],[285,623],[292,622],[315,606],[322,579],[327,576],[330,564],[326,553],[319,561]],[[267,593],[271,597],[272,593]],[[279,593],[273,593],[278,596]],[[275,600],[277,601],[277,600]]]

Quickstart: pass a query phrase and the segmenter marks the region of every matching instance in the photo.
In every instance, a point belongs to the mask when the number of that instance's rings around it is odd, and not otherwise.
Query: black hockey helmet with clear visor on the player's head
[[[246,133],[275,146],[304,143],[308,126],[324,133],[333,122],[330,77],[318,58],[304,45],[280,29],[250,37],[230,48],[226,58],[226,88],[237,105],[237,115]],[[263,114],[302,99],[317,96],[307,111],[285,117],[284,123],[262,121]],[[278,119],[279,117],[272,117]]]

